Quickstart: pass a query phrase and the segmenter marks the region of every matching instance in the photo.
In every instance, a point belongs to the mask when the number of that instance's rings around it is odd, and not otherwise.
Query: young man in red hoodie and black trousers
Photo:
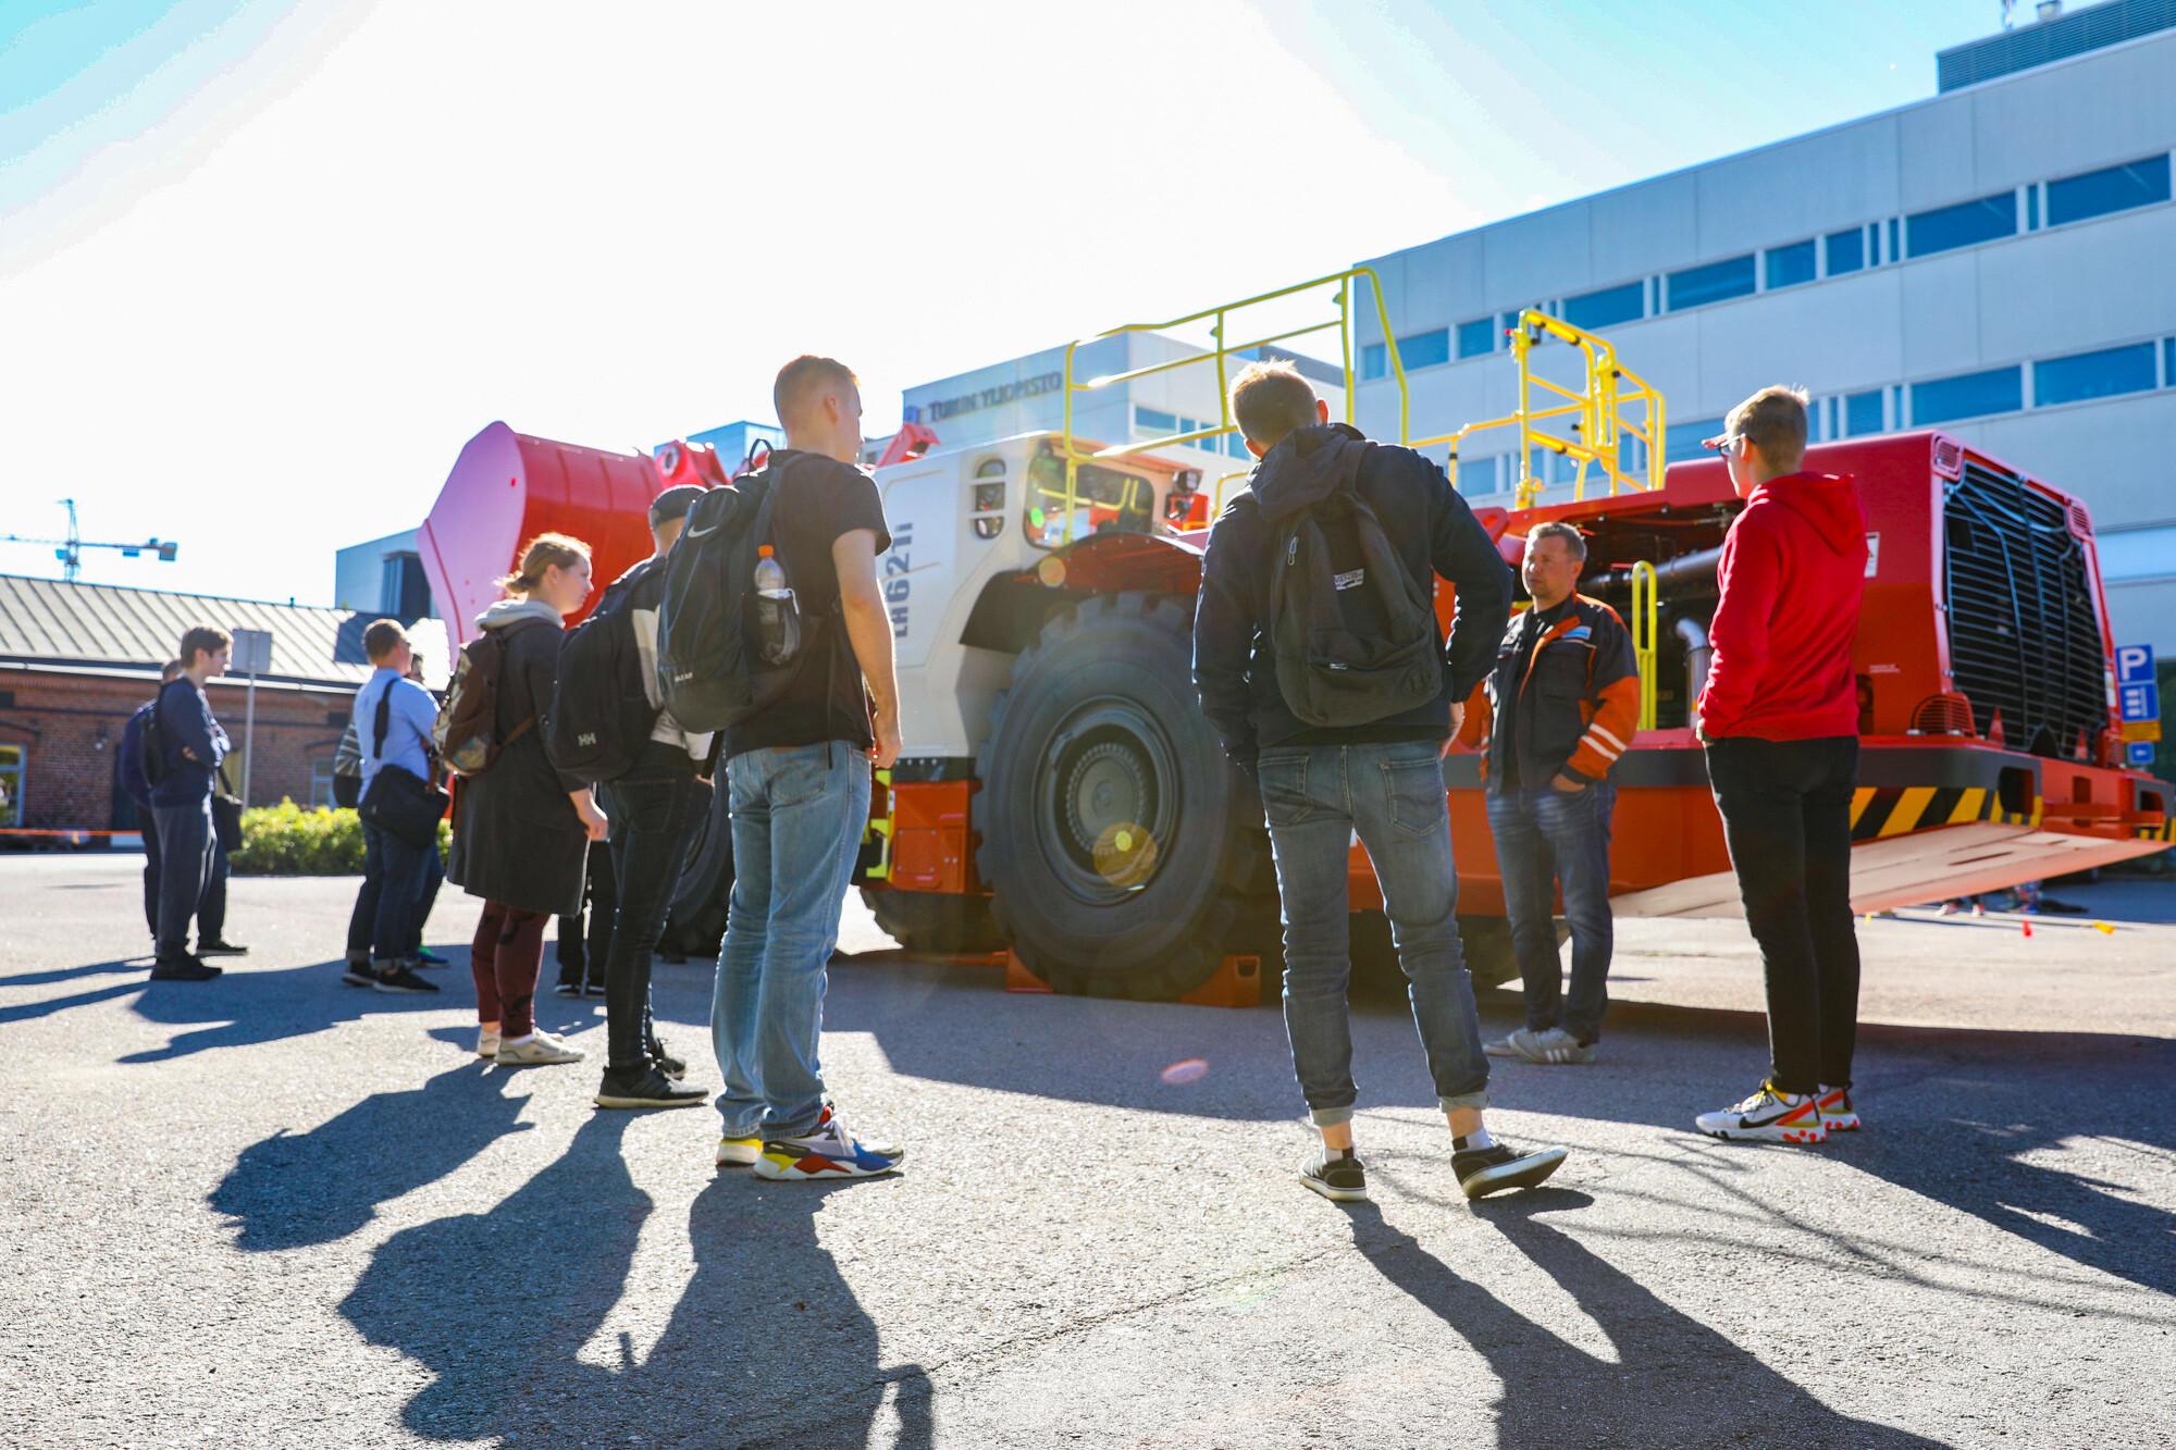
[[[1760,943],[1769,1076],[1695,1121],[1717,1139],[1819,1143],[1858,1128],[1858,938],[1852,934],[1852,790],[1858,688],[1852,640],[1867,525],[1850,477],[1800,472],[1806,394],[1763,388],[1708,446],[1745,512],[1730,525],[1699,738]]]

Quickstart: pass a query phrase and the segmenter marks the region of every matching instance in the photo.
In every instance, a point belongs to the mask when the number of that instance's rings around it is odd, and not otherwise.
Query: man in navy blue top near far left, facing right
[[[152,982],[209,982],[220,975],[189,954],[189,921],[205,901],[218,838],[211,832],[211,784],[226,760],[226,732],[211,718],[205,681],[226,673],[233,636],[196,625],[181,636],[181,675],[159,686],[159,784],[150,788],[159,832],[159,956]]]

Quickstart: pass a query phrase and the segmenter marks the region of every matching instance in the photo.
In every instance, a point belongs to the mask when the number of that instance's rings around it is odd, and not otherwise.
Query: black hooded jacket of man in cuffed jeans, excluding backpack
[[[1458,614],[1434,701],[1373,725],[1323,729],[1299,721],[1277,690],[1264,594],[1279,520],[1345,483],[1375,509],[1414,579],[1434,573],[1451,581]],[[1373,444],[1343,422],[1314,425],[1271,448],[1210,529],[1195,605],[1195,690],[1225,753],[1249,771],[1273,745],[1441,740],[1451,734],[1451,701],[1488,673],[1508,618],[1510,568],[1443,468],[1412,448]]]

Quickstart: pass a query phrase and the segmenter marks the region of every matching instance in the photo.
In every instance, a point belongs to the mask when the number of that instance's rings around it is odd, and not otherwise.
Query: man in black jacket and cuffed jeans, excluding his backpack
[[[1510,616],[1510,570],[1441,468],[1412,448],[1373,444],[1332,425],[1327,405],[1293,366],[1251,364],[1240,372],[1232,416],[1262,462],[1216,520],[1201,560],[1195,688],[1225,751],[1256,773],[1269,816],[1284,904],[1284,1025],[1308,1115],[1323,1136],[1299,1178],[1332,1200],[1367,1197],[1353,1156],[1358,1089],[1345,1010],[1347,860],[1358,836],[1375,862],[1412,1019],[1451,1126],[1451,1171],[1467,1197],[1536,1184],[1556,1171],[1565,1150],[1512,1152],[1482,1123],[1488,1058],[1458,943],[1458,871],[1443,788],[1458,701],[1488,671]],[[1367,725],[1310,727],[1277,688],[1271,562],[1288,546],[1290,527],[1340,490],[1356,490],[1373,509],[1412,579],[1451,581],[1458,614],[1434,699]],[[1347,579],[1358,583],[1360,575],[1338,573],[1336,588]]]

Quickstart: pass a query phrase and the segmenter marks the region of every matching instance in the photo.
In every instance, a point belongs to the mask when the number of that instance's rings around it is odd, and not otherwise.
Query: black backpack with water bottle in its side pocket
[[[770,542],[788,466],[768,464],[696,499],[666,555],[657,686],[685,729],[731,729],[755,716],[786,695],[809,655],[799,605],[755,597],[757,549]]]

